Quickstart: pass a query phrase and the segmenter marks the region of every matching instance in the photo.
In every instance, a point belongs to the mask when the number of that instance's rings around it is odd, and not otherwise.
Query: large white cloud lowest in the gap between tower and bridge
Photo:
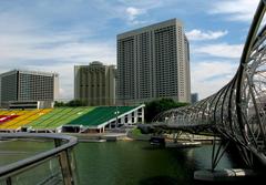
[[[201,99],[204,99],[216,93],[232,80],[238,63],[231,61],[198,61],[191,66],[192,92],[197,92]]]

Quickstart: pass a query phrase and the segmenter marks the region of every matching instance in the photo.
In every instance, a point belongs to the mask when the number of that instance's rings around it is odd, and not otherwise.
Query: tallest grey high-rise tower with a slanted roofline
[[[117,99],[191,102],[190,44],[177,19],[117,35]]]

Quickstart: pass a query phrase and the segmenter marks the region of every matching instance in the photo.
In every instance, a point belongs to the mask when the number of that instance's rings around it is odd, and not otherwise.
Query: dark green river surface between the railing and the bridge
[[[0,143],[0,166],[51,148],[52,145],[24,141]],[[79,143],[74,152],[80,185],[205,184],[195,182],[193,173],[209,168],[212,158],[212,145],[162,148],[136,141]],[[225,153],[217,168],[231,167],[237,166]]]

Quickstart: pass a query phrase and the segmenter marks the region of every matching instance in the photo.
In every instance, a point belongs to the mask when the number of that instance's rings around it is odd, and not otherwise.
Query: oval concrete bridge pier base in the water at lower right
[[[205,182],[229,182],[253,176],[256,176],[256,173],[253,169],[243,168],[224,168],[214,172],[211,169],[205,169],[194,172],[194,179]]]

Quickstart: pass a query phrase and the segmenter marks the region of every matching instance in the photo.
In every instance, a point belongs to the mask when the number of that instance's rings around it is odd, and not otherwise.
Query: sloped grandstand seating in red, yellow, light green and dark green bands
[[[135,109],[136,106],[82,106],[43,110],[0,110],[0,131],[57,131],[65,126],[95,127]],[[115,112],[119,112],[116,115]]]

